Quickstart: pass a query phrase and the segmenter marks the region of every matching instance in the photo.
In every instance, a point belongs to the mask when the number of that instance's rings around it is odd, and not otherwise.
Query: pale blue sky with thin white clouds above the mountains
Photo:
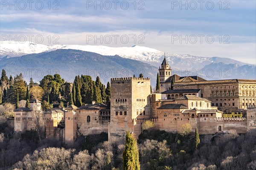
[[[58,35],[59,44],[141,45],[172,54],[229,57],[256,64],[255,0],[42,0],[32,1],[31,9],[26,0],[1,0],[0,5],[2,35],[42,35],[45,45],[52,45],[47,36]],[[86,41],[88,35],[128,35],[129,41]],[[202,42],[198,35],[204,36]],[[214,41],[207,42],[207,36],[214,37]],[[175,37],[178,40],[173,40]],[[182,37],[184,40],[180,41]],[[138,40],[143,43],[139,44]]]

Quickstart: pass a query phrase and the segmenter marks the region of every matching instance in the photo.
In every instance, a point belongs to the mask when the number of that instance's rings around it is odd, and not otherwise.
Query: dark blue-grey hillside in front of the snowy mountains
[[[0,68],[7,70],[7,75],[23,73],[25,80],[29,81],[29,74],[39,82],[47,74],[58,73],[68,82],[73,82],[76,75],[90,75],[93,79],[100,77],[107,83],[114,77],[133,77],[143,73],[144,77],[156,83],[157,67],[133,59],[115,56],[59,49],[39,54],[28,54],[22,57],[4,57],[0,60]]]

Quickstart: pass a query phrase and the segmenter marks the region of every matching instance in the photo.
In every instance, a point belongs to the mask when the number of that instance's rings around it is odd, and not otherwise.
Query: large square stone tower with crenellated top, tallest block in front
[[[108,139],[125,139],[127,130],[139,136],[143,121],[149,117],[150,79],[138,77],[111,79],[111,121]]]

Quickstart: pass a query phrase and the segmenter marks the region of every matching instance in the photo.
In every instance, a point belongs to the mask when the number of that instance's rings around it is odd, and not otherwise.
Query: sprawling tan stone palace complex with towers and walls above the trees
[[[199,134],[246,133],[256,128],[256,80],[207,81],[198,76],[172,75],[166,58],[159,68],[160,93],[150,93],[150,79],[123,77],[111,79],[111,108],[87,104],[77,108],[52,108],[44,112],[47,137],[73,144],[78,135],[108,133],[109,140],[122,140],[130,130],[140,135],[146,120],[155,128],[179,132],[189,123]],[[171,89],[174,79],[173,89]],[[35,107],[36,106],[36,107]],[[32,100],[29,108],[15,110],[15,132],[33,127],[33,113],[41,102]],[[224,113],[229,108],[230,113]]]

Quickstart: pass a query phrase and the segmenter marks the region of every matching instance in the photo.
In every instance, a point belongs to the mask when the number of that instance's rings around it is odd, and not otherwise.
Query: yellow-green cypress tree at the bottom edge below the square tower
[[[127,131],[125,137],[125,150],[122,154],[123,170],[140,170],[139,151],[134,136]]]

